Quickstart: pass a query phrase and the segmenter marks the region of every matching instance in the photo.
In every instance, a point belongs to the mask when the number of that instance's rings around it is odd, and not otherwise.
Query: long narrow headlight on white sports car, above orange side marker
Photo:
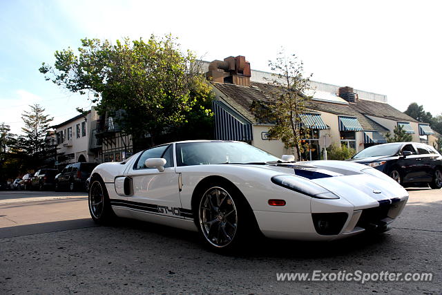
[[[338,199],[334,193],[328,189],[324,189],[320,185],[311,182],[305,178],[300,178],[291,175],[276,175],[271,178],[271,182],[278,184],[286,189],[303,193],[311,198],[318,199]]]

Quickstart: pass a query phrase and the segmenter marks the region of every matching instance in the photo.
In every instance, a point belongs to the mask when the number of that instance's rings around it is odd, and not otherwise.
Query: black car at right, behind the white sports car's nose
[[[442,187],[442,156],[427,144],[379,144],[360,151],[351,160],[390,175],[403,187],[427,184],[432,189]]]

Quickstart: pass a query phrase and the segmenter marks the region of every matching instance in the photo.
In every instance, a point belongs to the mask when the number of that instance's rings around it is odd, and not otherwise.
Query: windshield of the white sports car
[[[247,164],[280,161],[242,142],[186,142],[176,145],[177,165]]]

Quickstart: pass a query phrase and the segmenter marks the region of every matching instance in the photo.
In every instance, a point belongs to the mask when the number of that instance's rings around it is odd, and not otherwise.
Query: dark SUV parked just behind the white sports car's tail
[[[95,166],[97,166],[97,163],[68,164],[64,167],[63,171],[57,175],[55,180],[55,190],[86,190],[86,180],[89,178],[90,172],[93,171]]]

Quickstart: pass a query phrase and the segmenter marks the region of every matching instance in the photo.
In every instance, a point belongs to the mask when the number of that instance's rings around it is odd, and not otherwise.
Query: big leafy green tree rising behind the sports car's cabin
[[[155,144],[155,138],[188,123],[189,113],[200,111],[198,102],[211,100],[195,56],[182,53],[171,35],[115,45],[82,39],[78,52],[57,51],[54,66],[39,70],[69,91],[92,94],[101,115],[118,111],[118,123],[133,136],[134,146],[143,137]],[[204,115],[211,117],[211,110],[205,108]]]

